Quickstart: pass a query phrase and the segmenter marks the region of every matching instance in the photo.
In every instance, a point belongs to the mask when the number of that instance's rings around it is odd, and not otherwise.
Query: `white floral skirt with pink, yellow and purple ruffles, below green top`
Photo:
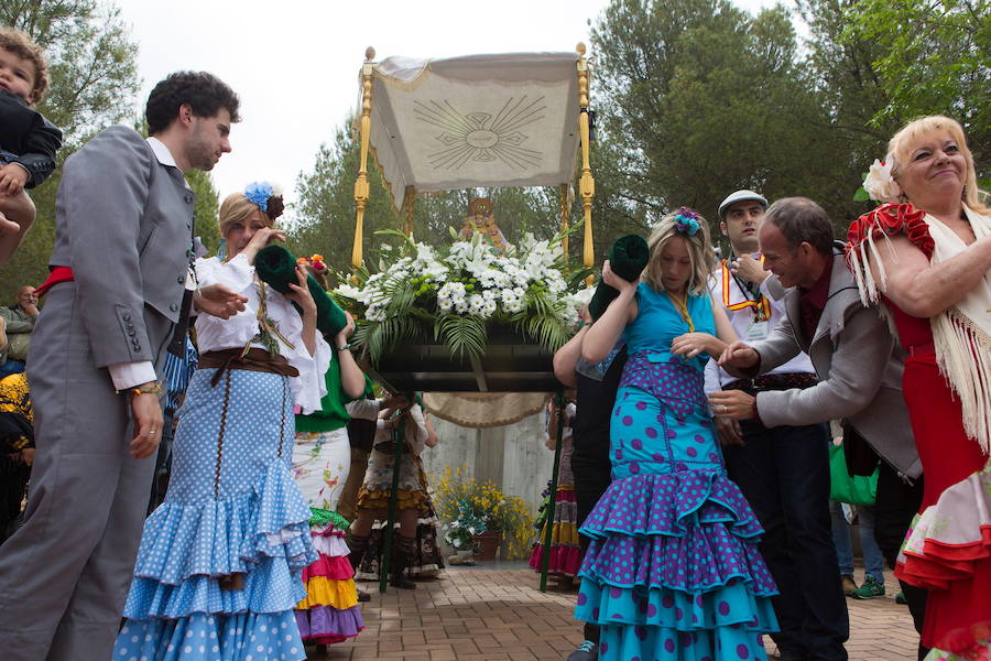
[[[293,476],[311,506],[309,534],[318,556],[303,571],[306,597],[296,604],[296,624],[303,640],[314,644],[341,642],[364,628],[345,542],[349,524],[335,511],[350,462],[346,429],[296,434]]]

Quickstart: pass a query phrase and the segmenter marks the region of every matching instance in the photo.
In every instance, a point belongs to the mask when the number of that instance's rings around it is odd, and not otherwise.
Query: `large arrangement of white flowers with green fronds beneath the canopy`
[[[442,326],[450,328],[454,321],[455,326],[464,327],[472,319],[515,325],[555,349],[567,339],[579,321],[578,311],[592,294],[579,286],[584,273],[570,273],[569,284],[560,245],[554,240],[538,241],[527,234],[519,246],[507,245],[505,252],[498,254],[480,235],[448,248],[434,248],[398,232],[381,234],[402,237],[401,257],[391,261],[396,252],[383,250],[378,273],[359,272],[360,285],[342,284],[334,291],[358,319],[353,344],[370,350],[374,359],[417,334],[394,323],[398,318],[433,323],[435,336],[444,335],[458,351],[481,354],[484,346],[477,340],[477,333],[467,346],[457,338],[451,342]],[[372,339],[377,332],[386,337]],[[482,340],[484,333],[482,329]]]

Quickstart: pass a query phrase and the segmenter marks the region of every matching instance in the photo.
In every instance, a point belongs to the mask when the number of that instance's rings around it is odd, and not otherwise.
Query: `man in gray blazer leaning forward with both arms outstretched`
[[[764,269],[776,277],[769,279],[769,292],[783,297],[786,318],[766,339],[734,343],[719,359],[728,371],[753,376],[805,351],[819,382],[755,398],[715,392],[709,402],[716,415],[758,418],[769,427],[845,420],[847,452],[862,440],[881,458],[875,537],[893,567],[922,499],[922,465],[902,395],[905,354],[878,312],[861,304],[843,245],[832,236],[829,217],[815,202],[786,197],[771,205],[759,238]],[[921,630],[925,592],[902,585]]]

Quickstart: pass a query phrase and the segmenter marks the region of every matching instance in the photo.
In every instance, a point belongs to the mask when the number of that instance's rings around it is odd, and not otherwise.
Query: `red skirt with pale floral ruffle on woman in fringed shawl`
[[[905,401],[925,475],[923,509],[895,575],[929,590],[927,660],[991,659],[991,462],[963,431],[935,355],[905,361]]]

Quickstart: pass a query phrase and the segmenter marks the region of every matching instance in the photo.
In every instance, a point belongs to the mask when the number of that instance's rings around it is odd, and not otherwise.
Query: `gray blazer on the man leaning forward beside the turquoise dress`
[[[812,359],[819,382],[804,390],[758,393],[758,410],[766,426],[802,425],[846,419],[871,447],[902,475],[917,478],[922,464],[915,449],[908,409],[902,395],[905,353],[887,324],[860,302],[853,277],[847,270],[842,243],[837,242],[829,299],[812,339],[802,333],[798,289],[782,289],[786,318],[762,342],[761,371],[774,369],[798,351]]]

